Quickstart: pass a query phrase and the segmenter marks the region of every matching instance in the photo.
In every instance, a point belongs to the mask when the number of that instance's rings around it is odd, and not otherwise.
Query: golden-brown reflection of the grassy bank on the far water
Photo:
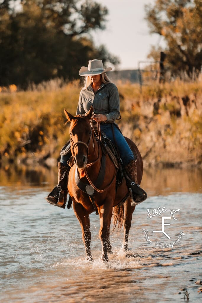
[[[7,166],[0,169],[0,184],[22,186],[55,186],[58,181],[57,168],[43,166]],[[197,168],[150,168],[144,170],[142,187],[149,195],[161,195],[170,192],[202,192],[202,169]]]

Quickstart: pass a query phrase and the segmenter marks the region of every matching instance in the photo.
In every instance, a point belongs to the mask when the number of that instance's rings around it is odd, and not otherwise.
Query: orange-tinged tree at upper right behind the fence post
[[[193,70],[199,73],[202,65],[202,5],[201,0],[156,0],[146,5],[146,20],[151,33],[164,37],[166,62],[172,75]],[[152,46],[149,58],[159,60],[159,51]]]

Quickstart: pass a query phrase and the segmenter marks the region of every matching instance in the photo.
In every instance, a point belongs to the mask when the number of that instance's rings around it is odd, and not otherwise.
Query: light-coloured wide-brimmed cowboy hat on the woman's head
[[[103,67],[102,60],[89,60],[88,67],[82,66],[79,75],[80,76],[93,76],[100,75],[104,72],[109,72],[112,70],[112,67],[105,68]]]

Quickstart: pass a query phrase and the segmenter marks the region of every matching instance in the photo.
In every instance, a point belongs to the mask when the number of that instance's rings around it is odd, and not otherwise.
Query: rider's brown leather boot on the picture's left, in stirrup
[[[56,185],[45,198],[48,203],[65,208],[68,194],[67,183],[69,171],[69,166],[64,166],[61,162],[58,162],[58,185]]]

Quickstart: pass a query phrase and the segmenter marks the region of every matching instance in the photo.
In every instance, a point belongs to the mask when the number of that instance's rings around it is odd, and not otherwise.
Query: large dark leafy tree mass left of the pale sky
[[[26,88],[55,77],[78,78],[89,59],[117,64],[90,33],[104,29],[107,8],[92,0],[2,1],[0,4],[0,85]]]

